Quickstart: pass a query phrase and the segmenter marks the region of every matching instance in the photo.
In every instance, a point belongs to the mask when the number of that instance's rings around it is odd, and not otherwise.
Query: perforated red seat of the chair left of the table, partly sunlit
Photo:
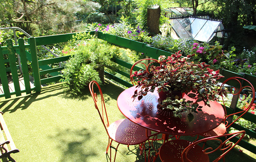
[[[120,119],[109,125],[109,137],[115,142],[127,145],[140,144],[148,140],[146,128],[143,128],[129,119]],[[148,131],[148,136],[151,131]]]

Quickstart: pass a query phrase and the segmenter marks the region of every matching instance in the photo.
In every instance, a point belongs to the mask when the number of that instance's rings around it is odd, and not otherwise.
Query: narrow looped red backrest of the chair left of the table
[[[90,89],[91,95],[94,100],[94,106],[95,106],[96,110],[98,111],[101,121],[108,133],[108,126],[109,126],[108,114],[106,111],[106,106],[105,106],[103,94],[101,91],[101,87],[97,81],[91,81],[89,84],[89,89]],[[98,96],[96,92],[99,93],[100,95]]]

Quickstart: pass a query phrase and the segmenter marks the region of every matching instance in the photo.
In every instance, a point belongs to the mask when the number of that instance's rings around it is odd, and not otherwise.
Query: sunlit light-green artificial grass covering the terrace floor
[[[116,105],[124,89],[109,81],[101,89],[110,123],[124,118]],[[88,88],[76,98],[70,97],[61,83],[43,87],[41,93],[0,98],[0,111],[20,150],[11,155],[16,162],[109,162],[105,154],[108,136]],[[225,159],[256,162],[238,150]],[[144,162],[144,157],[135,146],[128,150],[120,145],[116,162]]]

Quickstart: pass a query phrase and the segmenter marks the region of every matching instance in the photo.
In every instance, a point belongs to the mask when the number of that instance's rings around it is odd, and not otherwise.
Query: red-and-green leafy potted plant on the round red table
[[[182,117],[182,112],[189,111],[188,118],[191,121],[192,112],[201,111],[202,106],[198,102],[203,101],[209,106],[210,100],[217,100],[219,92],[215,91],[217,80],[223,76],[219,70],[209,69],[205,62],[195,63],[193,55],[182,57],[180,51],[171,56],[160,56],[157,63],[152,64],[149,70],[135,71],[131,77],[141,90],[135,91],[133,98],[141,100],[148,92],[154,92],[155,88],[162,98],[159,102],[161,108],[173,110],[174,117]],[[186,93],[193,100],[182,98]]]

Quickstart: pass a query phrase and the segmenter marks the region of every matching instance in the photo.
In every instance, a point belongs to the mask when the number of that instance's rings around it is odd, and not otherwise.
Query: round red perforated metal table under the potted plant
[[[199,105],[202,112],[193,113],[194,119],[189,122],[188,112],[182,112],[182,118],[174,118],[170,110],[157,108],[158,93],[148,92],[141,100],[134,100],[136,87],[124,90],[117,99],[117,106],[121,113],[132,122],[141,125],[151,131],[161,132],[169,135],[198,135],[213,130],[221,124],[224,118],[224,110],[216,101],[210,102],[209,106],[204,106],[203,102]],[[187,95],[185,98],[189,98]]]

